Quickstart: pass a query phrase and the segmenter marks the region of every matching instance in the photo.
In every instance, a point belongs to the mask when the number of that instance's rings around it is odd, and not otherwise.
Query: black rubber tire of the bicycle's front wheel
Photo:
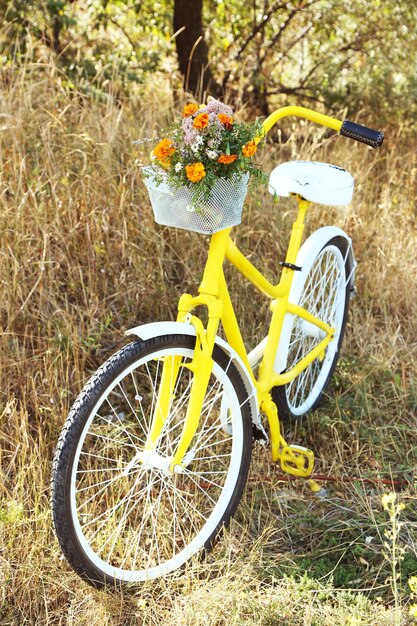
[[[179,344],[181,344],[179,346]],[[121,370],[128,367],[132,362],[150,354],[161,347],[194,348],[195,338],[188,335],[165,335],[150,339],[146,342],[134,341],[123,347],[108,359],[90,378],[80,395],[74,402],[67,417],[57,443],[55,458],[53,461],[51,477],[51,508],[53,524],[62,552],[71,567],[87,582],[95,587],[111,586],[126,587],[123,581],[108,576],[99,571],[94,563],[85,554],[74,529],[70,510],[70,476],[74,461],[75,450],[84,424],[90,415],[96,399],[103,393]],[[224,511],[224,514],[213,530],[200,552],[203,556],[210,551],[219,537],[221,530],[228,525],[236,511],[246,484],[252,452],[252,416],[250,403],[247,401],[248,392],[237,368],[230,361],[223,350],[215,346],[213,359],[222,367],[227,368],[226,375],[233,383],[236,394],[241,404],[243,418],[243,448],[240,470],[233,490],[232,497]],[[185,564],[184,564],[185,565]],[[133,585],[135,586],[135,585]]]

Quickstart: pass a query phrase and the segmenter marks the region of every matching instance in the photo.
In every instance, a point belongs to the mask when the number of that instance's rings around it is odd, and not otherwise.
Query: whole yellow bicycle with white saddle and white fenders
[[[379,131],[302,107],[275,111],[264,133],[286,115],[373,147],[383,141]],[[208,215],[194,228],[216,231],[198,295],[181,297],[177,321],[129,330],[135,341],[93,375],[65,422],[53,465],[54,526],[71,566],[96,586],[166,576],[209,550],[242,496],[254,438],[270,439],[284,471],[312,472],[313,453],[285,441],[279,416],[318,405],[338,359],[356,262],[350,238],[334,226],[301,245],[304,219],[311,202],[349,203],[353,179],[333,165],[295,161],[275,168],[269,185],[298,201],[279,283],[239,251],[230,225]],[[151,191],[154,202],[162,192]],[[225,259],[271,299],[268,335],[249,354]]]

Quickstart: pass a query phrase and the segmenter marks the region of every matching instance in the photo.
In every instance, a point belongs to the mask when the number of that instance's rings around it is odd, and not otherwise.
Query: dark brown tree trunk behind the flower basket
[[[219,97],[222,93],[209,67],[202,13],[203,0],[174,2],[174,32],[183,28],[175,43],[184,89],[201,100],[205,95]]]

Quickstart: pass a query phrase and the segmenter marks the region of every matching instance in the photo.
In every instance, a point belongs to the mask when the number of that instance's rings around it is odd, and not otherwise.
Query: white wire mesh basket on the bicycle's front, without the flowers
[[[170,187],[165,172],[160,168],[149,166],[142,169],[158,224],[205,234],[240,224],[249,173],[234,174],[228,179],[219,178],[209,198],[204,199],[202,194],[196,196],[187,187]]]

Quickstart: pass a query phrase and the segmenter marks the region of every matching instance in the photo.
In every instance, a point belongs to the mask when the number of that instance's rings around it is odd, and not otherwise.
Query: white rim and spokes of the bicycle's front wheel
[[[180,368],[156,453],[143,458],[162,359],[179,354],[183,363],[191,361],[192,350],[171,348],[125,369],[99,398],[75,452],[71,473],[75,533],[96,568],[126,582],[166,575],[200,550],[222,521],[239,475],[240,404],[217,363],[184,472],[168,475],[166,469],[185,417],[192,380],[187,368]],[[233,437],[224,428],[225,414]]]

